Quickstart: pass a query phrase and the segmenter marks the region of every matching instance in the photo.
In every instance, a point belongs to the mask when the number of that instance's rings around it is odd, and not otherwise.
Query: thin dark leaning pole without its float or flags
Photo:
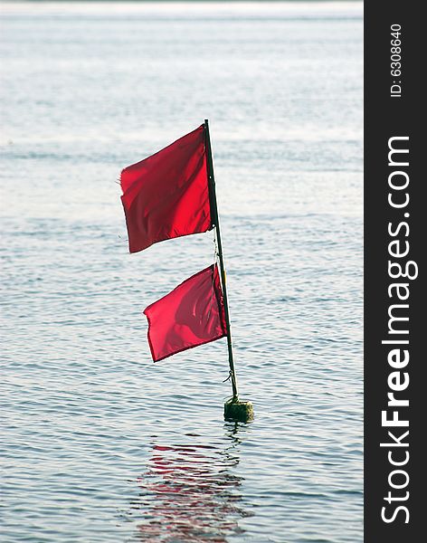
[[[227,325],[227,344],[228,344],[228,362],[230,365],[230,376],[232,379],[232,399],[238,400],[237,377],[234,369],[234,358],[232,356],[232,328],[230,326],[230,312],[228,310],[227,283],[225,279],[225,268],[223,265],[223,243],[221,242],[220,221],[218,216],[218,204],[216,201],[214,161],[212,158],[211,138],[209,136],[209,122],[204,119],[204,138],[206,147],[207,176],[209,183],[209,199],[211,202],[211,218],[215,226],[216,243],[218,246],[218,256],[220,259],[221,282],[223,283],[223,309],[225,313],[225,323]]]

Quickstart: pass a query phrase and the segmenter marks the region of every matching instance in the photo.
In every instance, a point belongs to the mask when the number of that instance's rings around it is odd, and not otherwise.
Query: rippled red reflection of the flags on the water
[[[233,473],[240,460],[238,425],[228,430],[225,447],[196,443],[201,438],[195,435],[194,443],[153,445],[132,503],[132,516],[141,519],[139,541],[225,543],[243,532],[239,519],[250,515],[242,509],[242,477]]]

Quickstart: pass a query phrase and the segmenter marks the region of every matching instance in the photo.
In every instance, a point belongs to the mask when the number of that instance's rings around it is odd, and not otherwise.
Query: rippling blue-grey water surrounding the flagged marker
[[[3,4],[2,542],[362,541],[362,4]],[[117,180],[210,119],[236,365],[142,310]]]

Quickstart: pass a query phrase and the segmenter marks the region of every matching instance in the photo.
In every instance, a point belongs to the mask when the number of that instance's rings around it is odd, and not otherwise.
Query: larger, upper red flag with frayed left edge
[[[129,252],[212,228],[204,125],[120,176]]]

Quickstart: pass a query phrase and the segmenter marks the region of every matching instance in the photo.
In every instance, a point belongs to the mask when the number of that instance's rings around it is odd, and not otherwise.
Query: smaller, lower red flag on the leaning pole
[[[155,362],[226,336],[223,292],[216,264],[182,282],[149,305],[144,314]]]

